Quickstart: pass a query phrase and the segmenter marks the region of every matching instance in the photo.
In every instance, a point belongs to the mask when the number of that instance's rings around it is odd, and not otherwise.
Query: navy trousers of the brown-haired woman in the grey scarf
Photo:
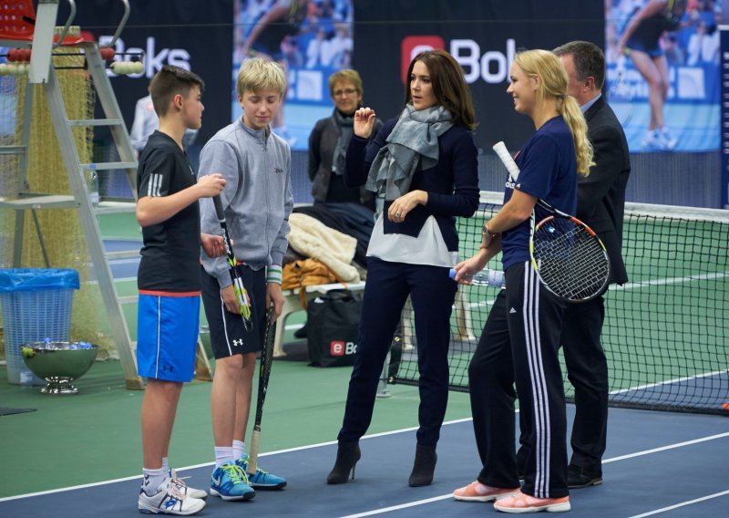
[[[359,440],[372,422],[377,382],[410,295],[420,372],[417,442],[436,445],[446,416],[450,314],[456,291],[446,267],[368,259],[357,352],[339,440]]]

